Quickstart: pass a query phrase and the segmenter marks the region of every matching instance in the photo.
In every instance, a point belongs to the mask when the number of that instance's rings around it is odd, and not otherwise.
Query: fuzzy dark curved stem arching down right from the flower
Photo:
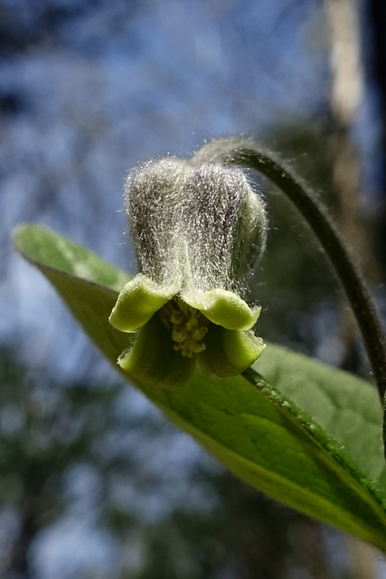
[[[252,141],[240,138],[215,139],[204,145],[193,157],[193,163],[204,162],[243,165],[259,171],[278,185],[297,206],[324,247],[344,287],[360,327],[383,402],[386,389],[386,337],[381,319],[369,290],[353,262],[353,257],[326,213],[325,207],[315,199],[306,184],[288,166],[283,165],[275,155]]]

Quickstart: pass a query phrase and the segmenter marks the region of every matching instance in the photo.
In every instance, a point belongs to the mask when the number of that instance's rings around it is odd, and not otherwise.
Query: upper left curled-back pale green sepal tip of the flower
[[[174,289],[138,273],[118,295],[108,321],[121,332],[137,332],[172,298]]]

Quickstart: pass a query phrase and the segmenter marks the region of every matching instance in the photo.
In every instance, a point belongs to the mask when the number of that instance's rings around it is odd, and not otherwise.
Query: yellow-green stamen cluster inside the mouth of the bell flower
[[[180,298],[174,298],[160,309],[160,316],[165,326],[172,329],[174,350],[191,358],[205,349],[202,338],[208,331],[209,320],[201,311],[188,306]]]

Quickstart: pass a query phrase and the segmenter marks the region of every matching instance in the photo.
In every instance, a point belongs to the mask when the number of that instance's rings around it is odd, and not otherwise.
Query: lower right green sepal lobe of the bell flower
[[[219,378],[240,374],[258,359],[265,348],[261,337],[251,331],[230,330],[214,324],[205,336],[205,346],[200,362]]]

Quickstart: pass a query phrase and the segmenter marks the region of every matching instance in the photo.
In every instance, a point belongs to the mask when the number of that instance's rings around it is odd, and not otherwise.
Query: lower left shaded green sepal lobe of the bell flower
[[[193,375],[195,359],[174,350],[170,329],[155,314],[139,330],[134,345],[118,357],[118,365],[138,382],[179,388]]]

